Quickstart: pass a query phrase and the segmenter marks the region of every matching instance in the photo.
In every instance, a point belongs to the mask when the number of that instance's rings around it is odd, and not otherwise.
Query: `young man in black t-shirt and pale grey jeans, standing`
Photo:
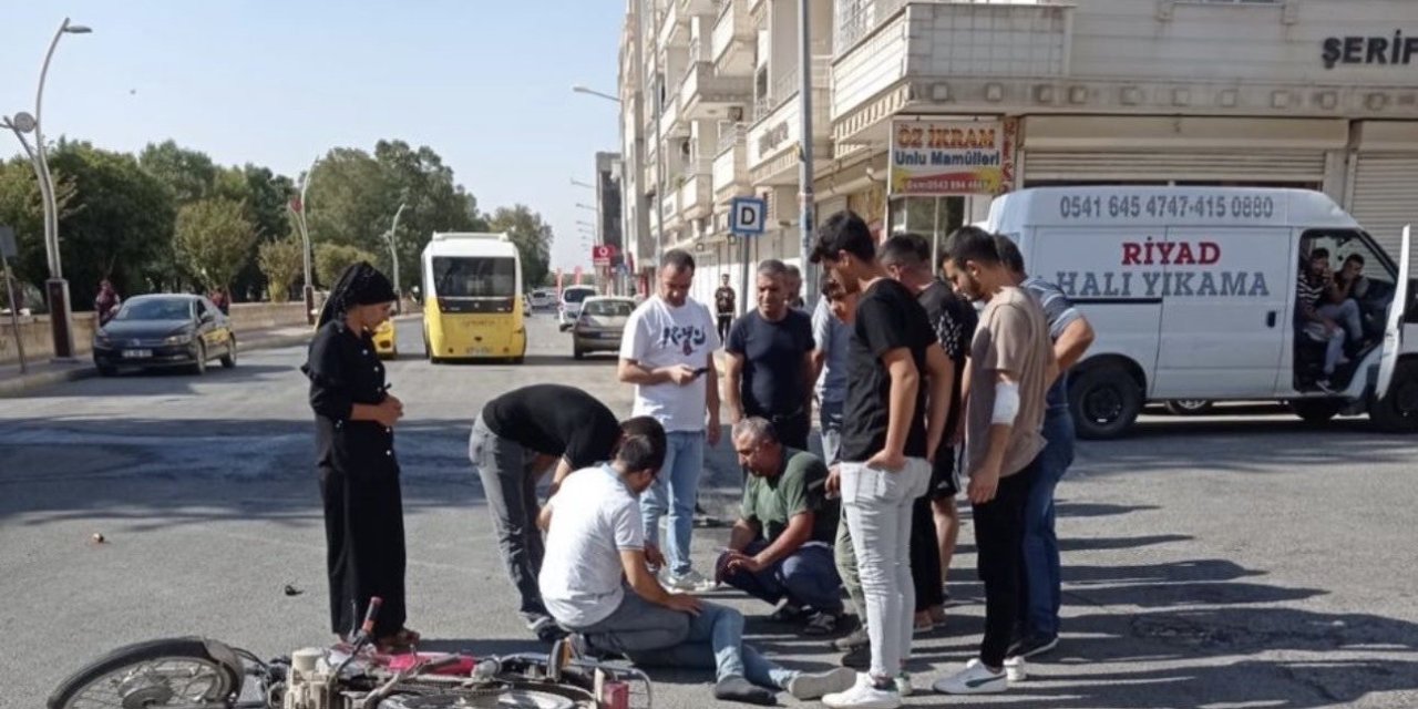
[[[876,262],[875,240],[861,217],[849,211],[828,217],[813,262],[831,269],[848,292],[861,292],[848,347],[838,484],[872,655],[871,681],[828,695],[824,703],[899,706],[898,679],[910,654],[916,603],[910,512],[930,485],[929,461],[944,435],[949,363],[915,294],[886,278]]]

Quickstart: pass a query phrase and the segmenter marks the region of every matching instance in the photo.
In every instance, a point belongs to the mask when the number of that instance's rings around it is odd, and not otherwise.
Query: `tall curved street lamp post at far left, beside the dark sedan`
[[[64,279],[64,259],[60,257],[60,214],[54,197],[54,176],[50,174],[50,160],[44,145],[44,79],[50,74],[50,62],[54,60],[54,50],[60,45],[60,38],[65,34],[88,34],[94,30],[82,24],[69,24],[65,17],[60,28],[50,41],[50,50],[44,54],[44,65],[40,68],[40,88],[34,92],[34,116],[16,113],[14,119],[4,119],[4,126],[14,132],[24,146],[24,152],[34,163],[34,174],[40,182],[40,200],[44,207],[44,251],[50,267],[50,279],[44,282],[45,295],[50,302],[50,329],[54,336],[54,357],[60,360],[74,359],[74,329],[69,306],[69,282]],[[34,149],[24,140],[24,133],[34,132]]]

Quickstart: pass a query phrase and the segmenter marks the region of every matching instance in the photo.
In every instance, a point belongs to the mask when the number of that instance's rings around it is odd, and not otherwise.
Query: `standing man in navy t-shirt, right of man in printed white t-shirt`
[[[783,261],[759,264],[759,306],[735,320],[725,343],[725,398],[733,424],[773,423],[778,441],[807,450],[813,428],[813,319],[787,305]]]

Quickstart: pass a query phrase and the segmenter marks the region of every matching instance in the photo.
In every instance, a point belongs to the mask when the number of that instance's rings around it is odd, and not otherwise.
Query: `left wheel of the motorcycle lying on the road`
[[[242,666],[225,645],[166,638],[118,648],[69,675],[48,709],[224,706],[241,693]]]

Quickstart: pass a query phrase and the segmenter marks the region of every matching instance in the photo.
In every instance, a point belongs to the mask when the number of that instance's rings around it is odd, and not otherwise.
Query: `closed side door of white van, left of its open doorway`
[[[1147,250],[1163,296],[1153,398],[1275,396],[1293,241],[1289,227],[1168,227],[1166,252]]]

